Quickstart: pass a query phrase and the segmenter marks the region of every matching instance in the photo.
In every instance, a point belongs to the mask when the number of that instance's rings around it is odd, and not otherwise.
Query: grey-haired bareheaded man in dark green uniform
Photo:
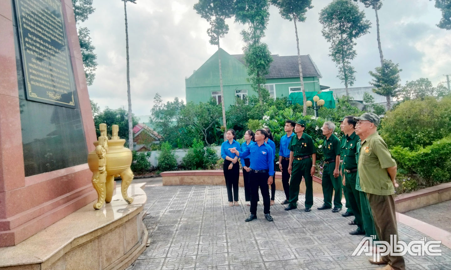
[[[322,126],[322,134],[326,136],[322,144],[324,165],[322,171],[322,194],[324,204],[318,210],[332,208],[332,194],[335,190],[334,208],[332,212],[341,211],[341,176],[340,176],[340,140],[333,134],[335,124],[327,121]]]

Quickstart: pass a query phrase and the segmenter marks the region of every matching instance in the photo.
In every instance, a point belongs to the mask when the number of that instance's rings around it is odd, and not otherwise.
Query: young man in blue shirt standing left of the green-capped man
[[[295,134],[295,121],[287,120],[285,121],[284,130],[285,135],[281,138],[281,146],[279,149],[279,170],[282,172],[282,186],[285,192],[285,200],[281,204],[287,204],[290,199],[290,173],[288,173],[288,166],[290,165],[290,149],[288,146],[291,142],[291,136]]]

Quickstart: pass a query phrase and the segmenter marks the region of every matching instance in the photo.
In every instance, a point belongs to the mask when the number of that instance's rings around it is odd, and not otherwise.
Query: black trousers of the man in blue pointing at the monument
[[[257,214],[258,188],[263,197],[263,212],[269,214],[270,198],[269,198],[269,174],[267,172],[250,172],[249,182],[251,184],[251,214]]]

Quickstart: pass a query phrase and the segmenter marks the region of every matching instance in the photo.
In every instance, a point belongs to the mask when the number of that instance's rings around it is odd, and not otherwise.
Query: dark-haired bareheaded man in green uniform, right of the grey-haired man
[[[354,223],[357,225],[357,229],[350,232],[351,235],[365,234],[364,225],[362,221],[361,209],[360,209],[360,194],[359,190],[355,189],[355,183],[357,178],[357,162],[355,154],[357,152],[357,142],[360,141],[359,136],[355,134],[354,116],[345,117],[341,124],[343,131],[345,132],[345,145],[343,153],[343,184],[345,184],[345,193],[347,194],[347,200],[349,200],[350,207],[355,216]]]

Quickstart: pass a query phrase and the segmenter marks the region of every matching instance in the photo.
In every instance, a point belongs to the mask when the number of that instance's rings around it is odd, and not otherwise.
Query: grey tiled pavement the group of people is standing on
[[[274,222],[264,219],[261,202],[258,220],[244,222],[249,207],[244,189],[239,207],[227,205],[224,186],[150,186],[146,188],[148,215],[144,219],[150,246],[128,270],[357,270],[380,269],[367,257],[352,257],[360,236],[349,231],[351,220],[330,210],[284,211],[276,191],[271,207]],[[304,196],[300,195],[302,204]],[[343,211],[341,211],[342,213]],[[422,235],[399,224],[400,239],[419,240]],[[442,256],[405,256],[409,270],[450,270],[451,250]]]

